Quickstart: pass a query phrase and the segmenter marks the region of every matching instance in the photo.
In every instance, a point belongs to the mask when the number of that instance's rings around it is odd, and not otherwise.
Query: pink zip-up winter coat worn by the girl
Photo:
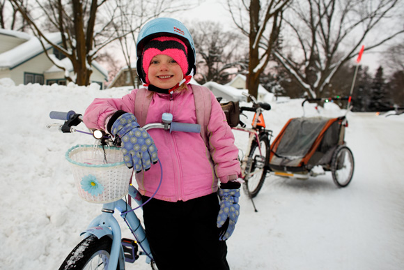
[[[138,89],[123,98],[97,98],[86,109],[84,123],[88,128],[104,130],[105,121],[117,110],[134,114],[134,99]],[[212,110],[207,132],[210,150],[199,133],[172,132],[151,129],[148,133],[155,142],[162,163],[163,180],[155,198],[169,202],[187,201],[217,191],[218,178],[223,183],[228,177],[240,174],[238,148],[231,128],[211,93]],[[192,90],[173,93],[154,93],[148,108],[146,123],[160,123],[164,112],[173,114],[173,121],[196,123]],[[139,192],[150,197],[160,183],[159,165],[136,175]]]

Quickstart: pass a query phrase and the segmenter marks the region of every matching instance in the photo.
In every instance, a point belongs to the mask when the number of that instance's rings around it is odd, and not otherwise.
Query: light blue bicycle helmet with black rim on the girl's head
[[[187,27],[185,27],[182,22],[169,18],[169,17],[160,17],[150,22],[146,23],[144,27],[140,30],[139,36],[137,36],[137,45],[136,45],[136,53],[137,53],[137,75],[141,82],[146,83],[145,75],[142,70],[142,59],[141,55],[143,52],[144,45],[148,43],[149,40],[153,38],[157,38],[159,36],[174,36],[176,38],[180,38],[188,47],[188,64],[189,68],[187,70],[187,74],[185,75],[194,75],[196,73],[196,53],[194,47],[194,40],[192,39],[191,34],[189,33]],[[192,52],[192,53],[191,53]]]

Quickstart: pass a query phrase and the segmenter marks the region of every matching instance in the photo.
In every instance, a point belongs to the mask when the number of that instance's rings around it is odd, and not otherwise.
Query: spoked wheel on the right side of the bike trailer
[[[341,188],[348,186],[354,172],[354,158],[348,147],[340,146],[332,155],[331,172],[336,186]]]

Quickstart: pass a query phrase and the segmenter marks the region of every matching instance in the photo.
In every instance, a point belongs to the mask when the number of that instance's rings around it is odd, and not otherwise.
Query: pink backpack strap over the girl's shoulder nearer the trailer
[[[210,119],[210,112],[212,110],[212,100],[210,99],[210,90],[200,85],[189,84],[194,93],[195,110],[196,110],[196,122],[201,125],[201,137],[203,142],[209,149],[208,141],[208,123]]]

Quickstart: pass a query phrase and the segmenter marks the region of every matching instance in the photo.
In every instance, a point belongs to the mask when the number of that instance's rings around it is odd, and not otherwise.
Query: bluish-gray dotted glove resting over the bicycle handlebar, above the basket
[[[133,114],[122,114],[111,127],[111,133],[121,137],[123,159],[136,172],[150,169],[157,163],[157,148],[152,137],[139,126]]]

